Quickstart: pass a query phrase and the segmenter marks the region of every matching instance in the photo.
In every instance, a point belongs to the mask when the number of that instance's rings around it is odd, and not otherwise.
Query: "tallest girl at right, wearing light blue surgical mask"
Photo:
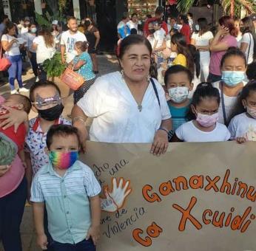
[[[219,122],[226,126],[233,112],[238,95],[245,86],[246,57],[240,49],[230,48],[220,61],[221,80],[213,83],[220,92]]]

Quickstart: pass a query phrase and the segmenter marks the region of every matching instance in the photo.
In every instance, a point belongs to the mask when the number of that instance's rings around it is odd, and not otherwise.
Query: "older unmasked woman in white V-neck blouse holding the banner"
[[[88,136],[99,142],[152,142],[152,154],[166,152],[172,120],[164,89],[149,80],[151,53],[149,41],[141,35],[121,41],[121,72],[98,78],[73,107],[73,126],[83,144]],[[89,134],[87,117],[93,118]]]

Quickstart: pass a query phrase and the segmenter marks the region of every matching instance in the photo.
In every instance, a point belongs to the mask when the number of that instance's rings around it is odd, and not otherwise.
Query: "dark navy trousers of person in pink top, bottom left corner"
[[[27,179],[24,178],[12,193],[0,198],[0,240],[5,251],[21,251],[19,226],[27,198]]]

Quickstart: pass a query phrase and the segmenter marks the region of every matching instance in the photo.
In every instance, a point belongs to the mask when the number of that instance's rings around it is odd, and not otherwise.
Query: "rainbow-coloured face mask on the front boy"
[[[52,162],[53,167],[58,169],[68,169],[72,167],[78,159],[78,151],[69,151],[67,153],[50,151],[49,159],[50,162]]]

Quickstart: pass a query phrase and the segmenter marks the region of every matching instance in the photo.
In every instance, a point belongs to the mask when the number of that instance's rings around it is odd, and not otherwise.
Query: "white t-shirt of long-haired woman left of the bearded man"
[[[45,42],[44,42],[44,37],[42,35],[38,35],[33,40],[33,43],[37,44],[37,49],[36,49],[36,62],[37,63],[44,63],[48,58],[53,58],[53,55],[56,52],[55,49],[55,42],[53,47],[47,47]]]

